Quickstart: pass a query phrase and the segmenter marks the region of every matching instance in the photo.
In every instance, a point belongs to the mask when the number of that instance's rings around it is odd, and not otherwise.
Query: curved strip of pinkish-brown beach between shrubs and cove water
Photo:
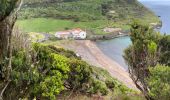
[[[77,52],[79,55],[81,55],[82,59],[88,63],[104,68],[114,78],[117,78],[129,88],[138,90],[129,77],[128,72],[126,72],[125,69],[117,62],[103,54],[103,52],[96,46],[94,42],[89,40],[71,41],[69,43],[63,44],[62,46],[64,46],[66,49],[71,49]]]

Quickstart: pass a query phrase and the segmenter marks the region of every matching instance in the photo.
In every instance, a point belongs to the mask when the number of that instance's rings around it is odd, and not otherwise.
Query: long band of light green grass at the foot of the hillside
[[[145,23],[158,22],[155,18],[154,21],[147,20],[145,18]],[[32,18],[25,20],[18,20],[16,25],[25,32],[46,32],[46,33],[55,33],[57,31],[63,31],[73,28],[82,28],[83,30],[90,30],[96,34],[107,34],[103,32],[105,27],[118,27],[123,30],[129,30],[130,21],[121,20],[117,22],[108,21],[108,20],[96,20],[89,22],[74,22],[72,20],[62,20],[62,19],[53,19],[53,18]]]

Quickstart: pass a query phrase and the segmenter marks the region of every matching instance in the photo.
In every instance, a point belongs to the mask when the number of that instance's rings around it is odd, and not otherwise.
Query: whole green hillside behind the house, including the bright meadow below
[[[158,18],[138,2],[125,0],[28,0],[20,11],[17,25],[26,32],[56,32],[67,28],[83,28],[105,34],[105,27],[129,28],[133,18],[145,23],[158,22]],[[61,0],[60,0],[61,1]],[[112,2],[110,2],[112,1]],[[106,6],[106,7],[105,7]],[[109,11],[116,13],[110,14]],[[22,20],[21,20],[22,19]]]

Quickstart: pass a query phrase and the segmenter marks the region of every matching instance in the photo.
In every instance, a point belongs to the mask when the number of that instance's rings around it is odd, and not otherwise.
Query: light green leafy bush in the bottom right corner
[[[170,98],[170,67],[157,65],[149,68],[150,76],[147,78],[150,88],[149,96],[154,100],[168,100]]]

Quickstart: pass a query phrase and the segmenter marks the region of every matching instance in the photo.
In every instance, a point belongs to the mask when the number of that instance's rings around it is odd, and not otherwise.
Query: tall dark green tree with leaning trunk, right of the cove
[[[160,36],[155,34],[148,25],[134,21],[130,34],[132,45],[125,50],[124,54],[130,77],[147,99],[150,99],[149,88],[145,80],[149,76],[148,67],[155,66],[158,62],[157,43]]]

